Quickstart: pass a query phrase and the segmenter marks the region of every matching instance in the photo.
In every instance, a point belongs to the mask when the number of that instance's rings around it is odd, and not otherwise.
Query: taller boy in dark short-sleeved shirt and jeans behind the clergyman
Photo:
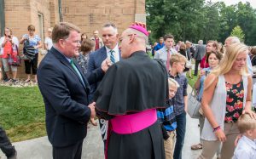
[[[182,157],[183,143],[185,139],[186,132],[186,111],[188,105],[188,80],[182,75],[183,70],[185,69],[186,57],[182,54],[172,54],[170,59],[170,77],[175,79],[179,84],[179,88],[177,88],[177,93],[174,96],[174,114],[176,116],[177,121],[177,129],[176,129],[176,144],[173,153],[173,158],[180,159]]]

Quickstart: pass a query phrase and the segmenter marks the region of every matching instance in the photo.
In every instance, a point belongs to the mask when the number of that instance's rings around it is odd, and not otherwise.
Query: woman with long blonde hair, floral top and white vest
[[[237,119],[251,110],[252,77],[247,71],[248,48],[232,44],[218,68],[211,71],[204,83],[201,107],[206,116],[201,133],[202,152],[199,158],[212,158],[222,143],[221,158],[232,158],[239,130]]]

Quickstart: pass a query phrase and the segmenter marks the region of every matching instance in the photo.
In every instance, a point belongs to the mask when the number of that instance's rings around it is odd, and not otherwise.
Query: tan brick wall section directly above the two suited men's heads
[[[119,33],[135,21],[135,14],[145,14],[145,0],[62,0],[63,20],[78,25],[89,37],[113,22]]]

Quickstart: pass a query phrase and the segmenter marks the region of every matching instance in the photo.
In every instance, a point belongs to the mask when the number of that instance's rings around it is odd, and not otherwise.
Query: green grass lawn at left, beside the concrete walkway
[[[12,142],[46,135],[44,101],[38,87],[0,86],[0,125]]]

